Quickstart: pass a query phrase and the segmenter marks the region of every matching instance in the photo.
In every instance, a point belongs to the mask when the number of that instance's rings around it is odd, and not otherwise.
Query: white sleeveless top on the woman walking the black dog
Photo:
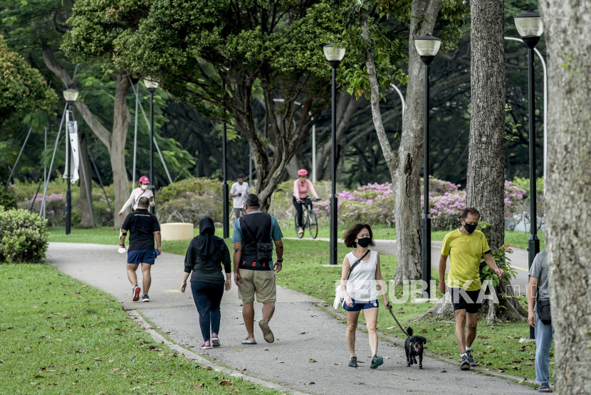
[[[378,293],[375,283],[375,266],[377,265],[377,252],[370,251],[370,259],[360,261],[351,272],[349,281],[347,281],[347,293],[355,303],[369,303],[377,301]],[[357,257],[352,252],[347,254],[349,265],[352,266],[357,261]],[[365,256],[364,259],[367,259]]]

